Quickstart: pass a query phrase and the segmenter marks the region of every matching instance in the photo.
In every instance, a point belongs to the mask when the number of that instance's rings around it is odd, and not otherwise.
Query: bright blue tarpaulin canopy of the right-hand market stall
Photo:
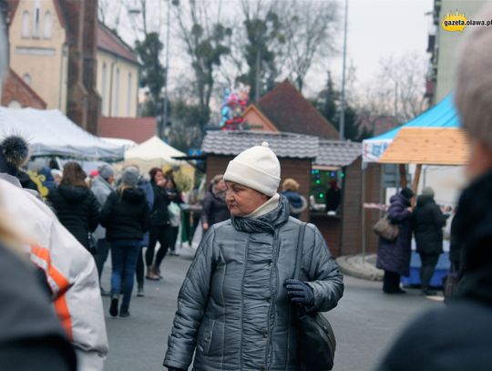
[[[398,132],[403,128],[459,128],[461,123],[453,103],[452,95],[446,96],[433,108],[411,119],[404,125],[363,141],[364,162],[377,162]]]

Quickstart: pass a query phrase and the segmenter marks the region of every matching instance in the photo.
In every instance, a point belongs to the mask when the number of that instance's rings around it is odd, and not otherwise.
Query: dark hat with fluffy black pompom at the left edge
[[[26,139],[11,135],[0,143],[0,172],[16,175],[17,170],[29,160],[29,144]]]

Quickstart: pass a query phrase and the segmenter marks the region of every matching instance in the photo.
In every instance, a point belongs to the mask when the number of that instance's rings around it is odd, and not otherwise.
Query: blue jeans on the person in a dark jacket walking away
[[[113,263],[111,294],[119,295],[121,281],[123,281],[123,302],[121,303],[123,309],[128,309],[131,299],[140,243],[140,240],[116,240],[111,242],[111,260]]]

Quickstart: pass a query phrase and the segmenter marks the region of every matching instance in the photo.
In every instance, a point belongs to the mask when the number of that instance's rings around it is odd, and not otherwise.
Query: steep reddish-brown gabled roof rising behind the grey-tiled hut
[[[279,131],[338,139],[333,125],[288,81],[263,96],[257,106]]]

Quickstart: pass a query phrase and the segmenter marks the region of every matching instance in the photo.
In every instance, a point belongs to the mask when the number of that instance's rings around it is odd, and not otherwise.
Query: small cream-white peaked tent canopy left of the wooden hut
[[[154,136],[137,147],[128,149],[125,152],[126,162],[136,162],[137,164],[145,164],[151,166],[180,166],[187,164],[183,160],[174,160],[173,157],[186,156],[185,153],[175,149],[163,140]]]

